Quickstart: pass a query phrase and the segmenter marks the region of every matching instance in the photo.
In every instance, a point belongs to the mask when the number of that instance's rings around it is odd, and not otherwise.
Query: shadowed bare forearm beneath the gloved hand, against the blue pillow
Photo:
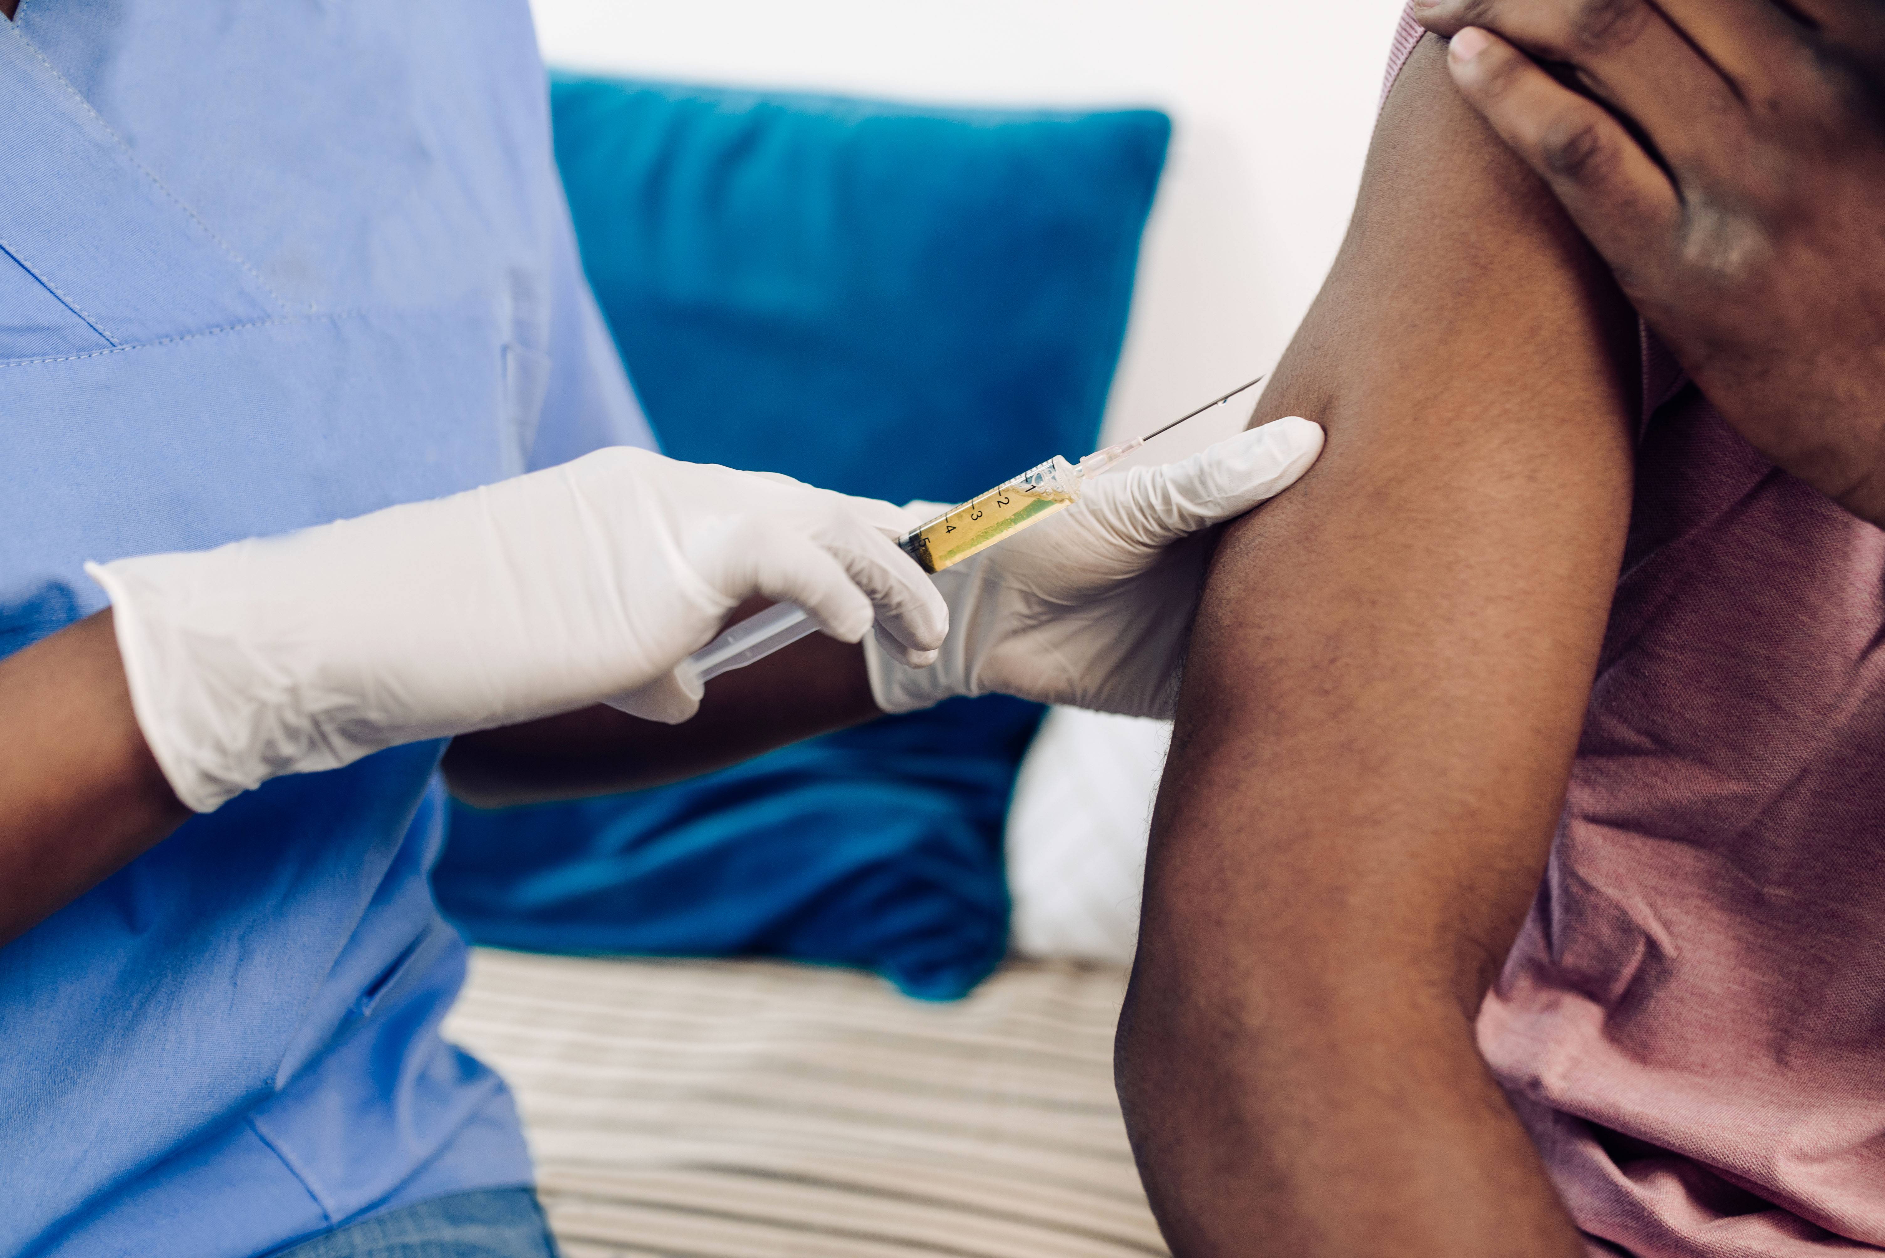
[[[878,716],[863,650],[814,633],[709,682],[699,714],[682,725],[596,706],[464,734],[445,753],[445,780],[483,808],[633,791]]]

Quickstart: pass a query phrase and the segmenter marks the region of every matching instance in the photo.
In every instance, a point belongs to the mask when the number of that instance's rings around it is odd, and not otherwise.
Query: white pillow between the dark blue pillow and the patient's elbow
[[[1171,721],[1048,712],[1008,804],[1012,947],[1131,964]]]

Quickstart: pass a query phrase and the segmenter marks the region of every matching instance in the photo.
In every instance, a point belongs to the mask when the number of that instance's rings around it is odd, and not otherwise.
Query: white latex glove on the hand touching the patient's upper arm
[[[909,669],[865,644],[877,706],[1005,693],[1171,718],[1208,559],[1199,533],[1282,493],[1318,454],[1321,427],[1287,418],[1095,478],[1067,510],[935,574],[950,618],[935,665]]]

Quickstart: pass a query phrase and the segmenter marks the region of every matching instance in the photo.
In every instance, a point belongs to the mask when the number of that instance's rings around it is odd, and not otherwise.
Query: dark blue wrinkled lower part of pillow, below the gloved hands
[[[458,806],[439,896],[500,947],[795,957],[961,996],[1007,947],[999,836],[1037,716],[958,699],[677,787]]]

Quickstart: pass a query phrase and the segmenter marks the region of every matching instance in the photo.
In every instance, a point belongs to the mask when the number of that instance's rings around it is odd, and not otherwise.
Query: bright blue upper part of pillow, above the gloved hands
[[[556,77],[582,269],[662,448],[963,499],[1099,435],[1171,121]]]

